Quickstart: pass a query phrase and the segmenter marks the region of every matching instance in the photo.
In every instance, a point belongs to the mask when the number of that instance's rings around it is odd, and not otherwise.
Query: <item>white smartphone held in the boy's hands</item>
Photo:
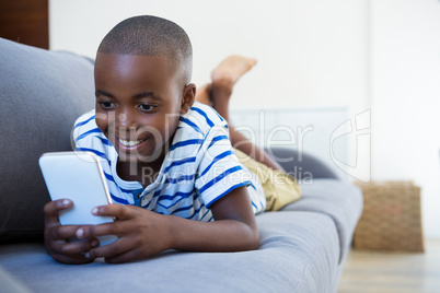
[[[70,199],[70,209],[59,213],[61,225],[97,225],[113,222],[109,216],[96,216],[92,209],[112,203],[100,157],[92,152],[45,153],[39,167],[51,200]],[[117,236],[97,237],[100,245],[115,242]],[[71,239],[72,241],[72,239]]]

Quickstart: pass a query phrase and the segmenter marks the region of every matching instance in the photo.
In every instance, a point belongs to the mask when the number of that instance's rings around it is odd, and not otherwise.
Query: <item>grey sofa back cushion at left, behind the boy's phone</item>
[[[43,235],[38,157],[71,150],[73,121],[93,104],[89,60],[0,38],[0,244]]]

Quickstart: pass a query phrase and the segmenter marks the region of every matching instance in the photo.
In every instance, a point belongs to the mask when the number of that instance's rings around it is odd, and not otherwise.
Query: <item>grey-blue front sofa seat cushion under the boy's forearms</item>
[[[256,216],[260,248],[244,253],[165,251],[148,260],[69,266],[43,245],[0,247],[0,263],[32,292],[332,292],[339,245],[335,224],[313,212]]]

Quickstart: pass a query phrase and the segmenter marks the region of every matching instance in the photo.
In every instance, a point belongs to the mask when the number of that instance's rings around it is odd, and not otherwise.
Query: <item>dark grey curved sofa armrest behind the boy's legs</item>
[[[298,180],[304,179],[304,175],[309,173],[314,179],[340,179],[331,166],[309,153],[287,148],[271,148],[265,151]]]

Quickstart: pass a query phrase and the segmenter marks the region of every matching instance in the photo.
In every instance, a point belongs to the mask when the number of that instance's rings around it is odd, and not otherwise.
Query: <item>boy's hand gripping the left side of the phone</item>
[[[68,199],[50,201],[45,204],[45,245],[51,257],[58,262],[72,265],[89,263],[94,259],[85,258],[84,254],[100,246],[100,242],[96,238],[92,238],[69,243],[68,238],[74,238],[76,232],[81,226],[61,225],[58,220],[58,213],[69,209],[72,204],[72,201]]]

